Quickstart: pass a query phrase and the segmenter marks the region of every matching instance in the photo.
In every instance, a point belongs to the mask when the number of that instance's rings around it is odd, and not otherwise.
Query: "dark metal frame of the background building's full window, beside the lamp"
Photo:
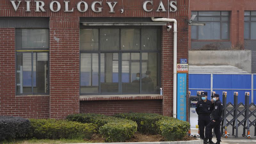
[[[196,17],[197,17],[197,20],[195,20],[194,22],[196,23],[207,23],[207,22],[220,22],[220,39],[209,39],[209,40],[229,40],[230,39],[230,12],[229,11],[220,11],[220,15],[218,16],[199,16],[199,11],[193,11],[193,12],[196,12]],[[228,16],[222,16],[222,12],[228,12]],[[199,21],[199,17],[220,17],[220,21]],[[222,17],[228,17],[228,20],[222,20]],[[222,23],[228,23],[228,39],[222,39]],[[191,39],[191,40],[207,40],[207,39],[199,39],[199,26],[197,25],[196,26],[196,39]]]

